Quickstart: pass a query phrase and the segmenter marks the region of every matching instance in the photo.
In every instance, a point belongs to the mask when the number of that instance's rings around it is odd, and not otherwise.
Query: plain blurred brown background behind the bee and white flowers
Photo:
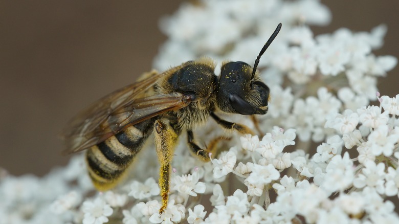
[[[158,28],[173,1],[0,1],[0,167],[10,173],[45,174],[65,165],[57,134],[83,107],[133,82],[151,69],[166,39]],[[330,26],[388,33],[376,55],[399,57],[397,0],[322,1]],[[379,80],[395,96],[399,69]]]

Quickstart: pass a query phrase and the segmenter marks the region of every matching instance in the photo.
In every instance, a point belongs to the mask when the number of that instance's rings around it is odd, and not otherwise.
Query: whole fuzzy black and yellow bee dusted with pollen
[[[221,127],[252,133],[245,125],[225,121],[217,113],[263,115],[268,111],[269,87],[260,80],[260,57],[281,29],[279,24],[264,44],[255,64],[224,62],[220,75],[215,63],[200,58],[163,73],[146,73],[136,83],[103,97],[83,110],[65,127],[62,137],[70,154],[86,150],[88,174],[94,186],[105,191],[123,179],[126,170],[153,133],[161,165],[159,186],[162,213],[167,206],[170,163],[182,132],[187,132],[189,149],[209,161],[211,147],[195,143],[193,129],[209,117]]]

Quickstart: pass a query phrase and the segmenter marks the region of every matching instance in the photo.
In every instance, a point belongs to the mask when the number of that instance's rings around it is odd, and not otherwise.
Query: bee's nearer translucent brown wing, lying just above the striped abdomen
[[[124,130],[130,125],[153,118],[170,110],[177,110],[187,106],[190,101],[181,93],[161,94],[130,101],[123,107],[109,113],[105,119],[101,119],[95,126],[87,131],[85,127],[79,126],[74,135],[67,136],[65,143],[67,149],[64,154],[82,151],[96,145],[116,133]],[[95,119],[97,122],[97,119]],[[86,125],[86,124],[82,124]]]

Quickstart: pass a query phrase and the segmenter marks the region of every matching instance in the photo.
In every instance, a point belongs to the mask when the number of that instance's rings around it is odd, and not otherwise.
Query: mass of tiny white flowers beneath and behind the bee
[[[376,87],[397,59],[372,53],[386,27],[314,36],[309,25],[329,20],[316,0],[183,4],[161,23],[169,39],[159,70],[203,55],[217,68],[225,59],[251,63],[283,24],[258,67],[270,86],[268,114],[226,117],[256,135],[208,122],[197,140],[231,137],[209,163],[181,141],[162,214],[156,154],[146,150],[132,177],[105,193],[93,194],[81,155],[43,178],[2,177],[0,223],[399,223],[399,95]]]

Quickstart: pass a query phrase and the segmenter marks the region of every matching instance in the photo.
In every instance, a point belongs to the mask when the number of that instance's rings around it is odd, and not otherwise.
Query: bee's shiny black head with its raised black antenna
[[[268,111],[269,87],[259,79],[256,69],[262,54],[281,29],[279,24],[264,44],[254,67],[242,61],[227,62],[221,66],[217,100],[219,108],[227,113],[263,115]]]

